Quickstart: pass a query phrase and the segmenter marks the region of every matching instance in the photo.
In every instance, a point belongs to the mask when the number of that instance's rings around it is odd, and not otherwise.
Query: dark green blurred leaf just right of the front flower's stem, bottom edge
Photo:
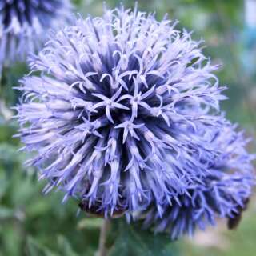
[[[118,238],[110,250],[110,256],[172,256],[177,250],[165,234],[153,234],[139,225],[119,223]]]

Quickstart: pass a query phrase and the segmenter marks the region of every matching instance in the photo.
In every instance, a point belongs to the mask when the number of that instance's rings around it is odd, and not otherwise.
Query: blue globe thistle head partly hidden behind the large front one
[[[175,239],[194,234],[196,228],[205,230],[215,224],[216,218],[238,218],[242,214],[255,182],[251,165],[254,156],[244,148],[247,141],[232,126],[205,136],[216,152],[212,159],[202,158],[209,173],[190,186],[188,194],[165,202],[161,212],[159,206],[150,207],[144,213],[144,226],[153,226],[156,232],[169,232]]]

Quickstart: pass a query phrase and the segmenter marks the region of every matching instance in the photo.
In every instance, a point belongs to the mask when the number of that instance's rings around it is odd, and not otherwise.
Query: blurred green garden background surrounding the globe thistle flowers
[[[102,1],[74,1],[76,11],[83,15],[102,14]],[[134,1],[123,0],[126,7]],[[120,1],[108,0],[113,8]],[[228,86],[230,98],[222,110],[232,122],[238,122],[253,138],[250,151],[255,152],[256,137],[256,0],[140,0],[139,10],[156,12],[158,19],[168,13],[179,20],[178,28],[193,30],[193,38],[205,40],[205,54],[212,62],[222,64],[218,77]],[[42,195],[44,182],[38,182],[34,170],[22,166],[26,155],[12,138],[18,128],[11,119],[18,95],[11,88],[27,72],[25,65],[8,70],[2,78],[0,101],[0,256],[16,255],[94,255],[98,248],[101,220],[77,213],[77,202],[61,204],[62,194]],[[118,227],[117,227],[118,225]],[[135,231],[134,231],[135,230]],[[153,236],[140,230],[130,230],[122,223],[112,225],[108,244],[110,255],[218,255],[253,256],[256,251],[256,197],[242,216],[237,230],[227,231],[226,222],[193,239],[183,238],[170,243],[165,236]],[[137,232],[137,233],[136,233]],[[116,239],[118,238],[118,239]],[[142,248],[145,241],[155,246],[150,253]],[[115,242],[114,242],[115,241]],[[128,247],[133,253],[126,253]],[[151,245],[150,245],[151,246]],[[137,249],[138,247],[138,249]],[[164,248],[164,249],[163,249]],[[155,252],[153,253],[153,251]]]

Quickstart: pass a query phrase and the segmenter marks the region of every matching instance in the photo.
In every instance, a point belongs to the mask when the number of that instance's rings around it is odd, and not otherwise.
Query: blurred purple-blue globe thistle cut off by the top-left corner
[[[0,67],[24,61],[46,40],[46,30],[61,25],[69,13],[69,0],[2,0]]]

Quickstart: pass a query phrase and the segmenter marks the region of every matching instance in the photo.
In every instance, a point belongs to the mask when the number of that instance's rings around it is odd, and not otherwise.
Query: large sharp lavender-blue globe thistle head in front
[[[213,158],[198,130],[222,130],[217,66],[175,22],[106,10],[58,31],[22,80],[17,107],[40,178],[108,215],[186,194]]]

